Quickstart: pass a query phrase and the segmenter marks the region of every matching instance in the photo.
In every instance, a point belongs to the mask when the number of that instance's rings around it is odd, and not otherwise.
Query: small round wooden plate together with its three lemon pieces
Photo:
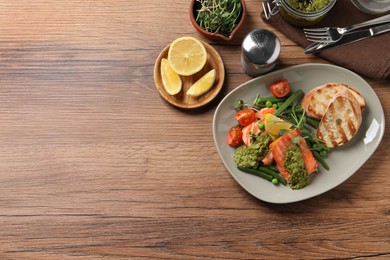
[[[170,104],[199,108],[222,89],[225,69],[218,52],[209,44],[184,36],[165,47],[154,65],[154,82]]]

